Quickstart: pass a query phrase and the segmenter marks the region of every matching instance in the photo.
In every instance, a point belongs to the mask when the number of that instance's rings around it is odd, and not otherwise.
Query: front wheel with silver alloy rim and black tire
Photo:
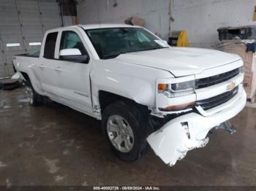
[[[148,150],[146,121],[131,101],[116,101],[103,111],[102,132],[121,160],[138,160]]]

